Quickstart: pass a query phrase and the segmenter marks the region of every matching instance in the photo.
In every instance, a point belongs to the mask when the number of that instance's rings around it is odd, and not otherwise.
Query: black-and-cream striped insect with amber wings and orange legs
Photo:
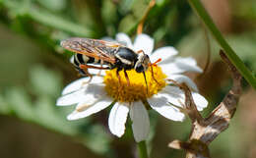
[[[145,72],[149,66],[154,64],[151,64],[150,57],[143,50],[135,52],[120,43],[78,37],[62,40],[61,46],[76,53],[73,64],[83,76],[93,78],[88,69],[112,70],[116,68],[118,79],[120,80],[119,72],[124,70],[129,84],[126,71],[134,69],[137,73],[143,73],[148,87]]]

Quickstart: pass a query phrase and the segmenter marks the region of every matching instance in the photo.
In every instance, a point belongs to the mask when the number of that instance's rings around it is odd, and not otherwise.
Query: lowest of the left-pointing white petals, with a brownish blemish
[[[81,119],[81,118],[88,117],[92,114],[95,114],[95,113],[99,112],[100,110],[105,109],[110,104],[111,104],[111,99],[110,98],[108,98],[108,99],[104,98],[104,100],[98,101],[94,105],[89,105],[89,103],[87,103],[87,102],[80,103],[76,107],[76,110],[73,113],[71,113],[67,117],[67,119],[68,120],[78,120],[78,119]],[[81,109],[81,111],[79,109]]]

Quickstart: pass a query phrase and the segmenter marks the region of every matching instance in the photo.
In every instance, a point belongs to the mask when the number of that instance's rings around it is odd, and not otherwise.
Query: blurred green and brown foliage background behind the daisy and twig
[[[136,146],[130,123],[122,138],[109,133],[108,111],[68,122],[74,107],[56,107],[61,89],[74,79],[70,53],[59,46],[70,36],[101,38],[117,32],[136,35],[149,0],[0,0],[0,155],[6,158],[131,158]],[[256,1],[203,0],[228,43],[256,70]],[[204,27],[186,0],[157,0],[145,23],[156,47],[175,46],[204,68],[208,44]],[[223,99],[231,79],[221,61],[220,47],[210,37],[211,63],[197,82],[210,105],[206,116]],[[256,157],[256,92],[244,81],[243,94],[231,125],[211,145],[212,157]],[[150,113],[151,157],[184,157],[167,148],[173,139],[186,140],[184,123]]]

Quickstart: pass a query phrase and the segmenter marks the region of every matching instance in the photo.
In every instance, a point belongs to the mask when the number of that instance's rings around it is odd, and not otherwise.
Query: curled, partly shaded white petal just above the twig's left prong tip
[[[173,80],[177,81],[178,83],[185,82],[194,91],[198,91],[198,88],[197,88],[197,85],[195,84],[195,82],[192,79],[189,79],[186,76],[183,76],[183,75],[172,75],[172,76],[168,77],[168,79],[173,79]]]

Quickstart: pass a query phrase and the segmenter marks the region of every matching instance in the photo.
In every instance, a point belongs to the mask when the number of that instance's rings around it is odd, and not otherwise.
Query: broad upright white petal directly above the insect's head
[[[136,36],[133,46],[136,51],[143,50],[150,55],[154,48],[154,39],[142,33]]]

